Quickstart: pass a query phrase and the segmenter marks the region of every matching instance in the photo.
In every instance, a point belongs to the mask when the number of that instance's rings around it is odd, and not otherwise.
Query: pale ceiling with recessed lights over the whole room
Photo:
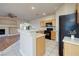
[[[0,3],[0,16],[12,13],[24,20],[32,20],[54,14],[61,5],[60,3]],[[32,6],[35,7],[34,10]]]

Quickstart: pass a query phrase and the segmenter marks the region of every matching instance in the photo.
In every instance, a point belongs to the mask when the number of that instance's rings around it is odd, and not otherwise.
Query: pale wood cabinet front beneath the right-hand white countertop
[[[64,56],[79,56],[79,45],[64,43]]]

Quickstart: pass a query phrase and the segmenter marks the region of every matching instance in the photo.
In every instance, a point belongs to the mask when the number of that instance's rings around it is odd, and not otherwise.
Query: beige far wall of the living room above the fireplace
[[[17,33],[19,21],[18,18],[0,17],[0,25],[3,25],[3,27],[7,27],[9,34],[15,34]]]

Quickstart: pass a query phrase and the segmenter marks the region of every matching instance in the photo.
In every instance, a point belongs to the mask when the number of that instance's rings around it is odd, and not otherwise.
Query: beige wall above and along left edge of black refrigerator
[[[64,4],[56,11],[56,38],[59,38],[59,16],[67,15],[75,12],[75,4]]]

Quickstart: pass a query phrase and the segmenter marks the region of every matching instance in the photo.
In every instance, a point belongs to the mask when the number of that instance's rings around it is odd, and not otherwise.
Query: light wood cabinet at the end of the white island
[[[45,54],[45,37],[39,37],[36,40],[36,55],[43,56]]]

